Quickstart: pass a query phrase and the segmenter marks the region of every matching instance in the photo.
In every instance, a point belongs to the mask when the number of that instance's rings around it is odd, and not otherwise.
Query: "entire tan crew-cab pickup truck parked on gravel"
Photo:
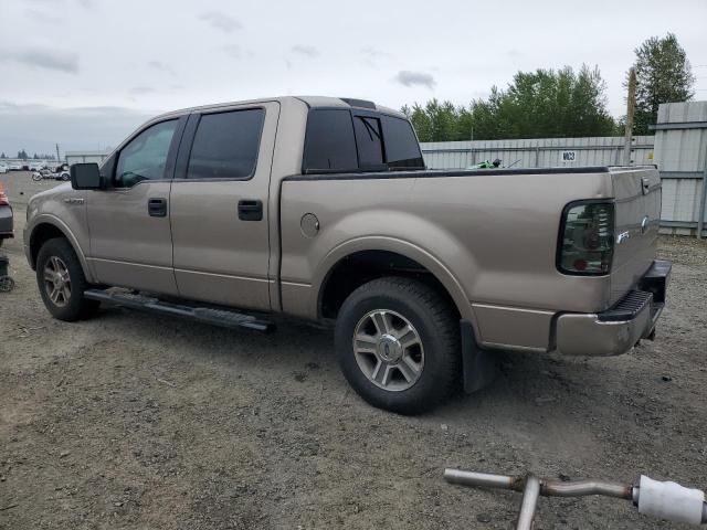
[[[653,167],[429,171],[398,112],[278,97],[146,123],[32,198],[24,245],[59,319],[112,303],[331,322],[357,392],[416,413],[481,388],[494,350],[612,356],[652,338],[671,271],[659,213]]]

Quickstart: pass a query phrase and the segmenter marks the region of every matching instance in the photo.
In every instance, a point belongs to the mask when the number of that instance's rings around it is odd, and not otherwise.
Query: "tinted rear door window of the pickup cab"
[[[204,114],[189,157],[189,179],[249,179],[255,171],[265,110]]]

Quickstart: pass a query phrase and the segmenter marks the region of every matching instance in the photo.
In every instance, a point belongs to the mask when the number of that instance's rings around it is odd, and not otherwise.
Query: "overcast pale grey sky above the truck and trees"
[[[518,70],[598,65],[674,32],[707,99],[707,0],[1,0],[0,150],[115,146],[147,116],[316,94],[468,104]]]

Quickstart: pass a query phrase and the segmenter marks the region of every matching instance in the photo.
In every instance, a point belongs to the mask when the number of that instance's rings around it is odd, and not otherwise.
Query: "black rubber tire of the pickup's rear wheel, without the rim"
[[[415,329],[424,351],[419,379],[405,390],[384,390],[359,367],[354,351],[357,326],[370,311],[393,311]],[[336,352],[349,384],[371,405],[399,414],[420,414],[447,400],[461,381],[460,320],[434,288],[415,279],[384,277],[356,289],[336,322]],[[371,356],[373,357],[373,356]],[[373,362],[377,361],[377,356]],[[403,385],[405,381],[402,382]],[[408,383],[409,384],[409,383]]]

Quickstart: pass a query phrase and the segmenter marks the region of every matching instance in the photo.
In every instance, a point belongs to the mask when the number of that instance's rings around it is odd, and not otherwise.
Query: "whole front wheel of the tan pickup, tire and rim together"
[[[99,303],[84,298],[88,283],[78,257],[64,237],[49,240],[36,256],[36,283],[54,318],[74,321],[94,316]]]

